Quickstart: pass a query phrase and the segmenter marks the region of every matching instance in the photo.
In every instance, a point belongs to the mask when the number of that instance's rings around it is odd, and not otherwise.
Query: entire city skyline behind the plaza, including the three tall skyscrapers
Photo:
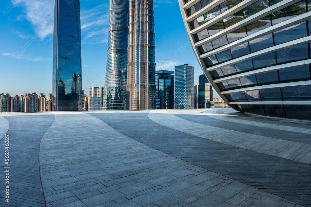
[[[230,108],[221,99],[213,99],[205,74],[194,86],[193,66],[156,71],[153,1],[109,1],[105,84],[90,86],[86,96],[82,90],[80,7],[77,1],[73,4],[55,3],[52,93],[47,98],[42,93],[15,97],[3,93],[0,112]]]

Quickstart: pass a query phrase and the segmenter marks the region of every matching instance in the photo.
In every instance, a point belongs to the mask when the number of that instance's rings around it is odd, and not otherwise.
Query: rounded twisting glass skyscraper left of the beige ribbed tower
[[[127,109],[128,0],[109,0],[104,110]]]

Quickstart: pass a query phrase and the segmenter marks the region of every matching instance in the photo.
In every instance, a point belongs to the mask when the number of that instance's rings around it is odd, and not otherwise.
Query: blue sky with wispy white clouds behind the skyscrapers
[[[80,0],[80,6],[82,89],[87,91],[88,86],[104,86],[108,0]],[[0,93],[51,93],[54,0],[0,0],[0,8]],[[175,65],[187,63],[195,67],[194,84],[198,84],[203,72],[178,0],[155,0],[154,16],[156,70],[174,70]]]

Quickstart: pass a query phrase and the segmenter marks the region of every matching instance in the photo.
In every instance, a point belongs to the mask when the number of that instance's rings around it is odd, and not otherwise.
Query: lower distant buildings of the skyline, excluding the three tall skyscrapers
[[[193,86],[194,67],[188,64],[175,66],[175,71],[158,70],[155,75],[155,109],[209,109],[231,108],[220,98],[213,98],[213,88],[205,74],[199,76],[199,84]],[[106,110],[105,87],[88,89],[80,105],[82,111]],[[11,97],[0,94],[0,112],[45,112],[53,111],[53,94],[25,93]]]

